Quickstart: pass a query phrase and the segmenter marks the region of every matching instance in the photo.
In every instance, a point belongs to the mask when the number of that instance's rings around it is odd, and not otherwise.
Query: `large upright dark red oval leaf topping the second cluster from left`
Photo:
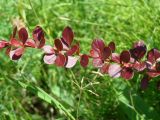
[[[74,33],[72,29],[70,27],[64,28],[62,32],[62,37],[63,40],[67,43],[67,45],[70,46],[74,38]]]

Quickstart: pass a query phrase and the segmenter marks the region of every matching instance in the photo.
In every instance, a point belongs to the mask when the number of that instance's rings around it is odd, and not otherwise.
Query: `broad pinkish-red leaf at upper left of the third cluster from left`
[[[103,40],[96,39],[92,42],[92,49],[94,49],[100,53],[103,52],[104,47],[105,47],[105,44],[104,44]]]

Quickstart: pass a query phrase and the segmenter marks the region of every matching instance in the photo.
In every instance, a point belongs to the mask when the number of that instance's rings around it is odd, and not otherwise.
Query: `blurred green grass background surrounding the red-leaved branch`
[[[42,26],[51,45],[72,27],[82,53],[95,38],[114,41],[118,53],[140,39],[148,49],[160,44],[159,0],[0,0],[0,39],[9,40],[15,19],[30,33]],[[64,69],[45,65],[42,57],[41,50],[27,49],[15,62],[1,51],[1,120],[160,120],[159,78],[142,91],[142,76],[112,79],[91,64]]]

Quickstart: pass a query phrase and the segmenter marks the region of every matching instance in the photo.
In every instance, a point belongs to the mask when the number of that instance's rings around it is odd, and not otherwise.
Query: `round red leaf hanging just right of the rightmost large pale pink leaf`
[[[121,77],[127,80],[132,79],[134,76],[134,72],[132,70],[132,68],[126,68],[124,67],[121,71]]]

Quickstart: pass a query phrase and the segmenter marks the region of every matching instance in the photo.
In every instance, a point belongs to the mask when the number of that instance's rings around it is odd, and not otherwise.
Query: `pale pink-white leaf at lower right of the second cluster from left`
[[[67,56],[67,62],[65,67],[66,68],[72,68],[76,65],[78,58],[77,57],[72,57],[72,56]]]

